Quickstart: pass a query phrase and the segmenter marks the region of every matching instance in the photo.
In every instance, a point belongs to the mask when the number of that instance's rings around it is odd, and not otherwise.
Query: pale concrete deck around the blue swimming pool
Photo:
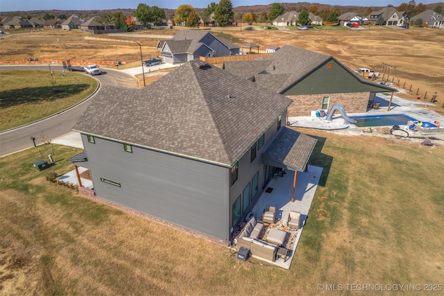
[[[398,96],[393,96],[390,110],[388,111],[388,103],[390,95],[377,94],[374,103],[379,103],[379,109],[368,108],[365,113],[347,113],[348,116],[368,116],[368,115],[390,115],[390,114],[406,114],[419,121],[439,121],[444,123],[444,116],[433,111],[427,111],[423,107],[434,106],[434,103],[427,101],[409,101]],[[347,110],[345,110],[347,112]],[[332,121],[326,121],[325,117],[314,116],[298,116],[289,117],[289,125],[298,128],[316,128],[318,130],[357,130],[357,126],[345,123],[341,114],[333,116]]]

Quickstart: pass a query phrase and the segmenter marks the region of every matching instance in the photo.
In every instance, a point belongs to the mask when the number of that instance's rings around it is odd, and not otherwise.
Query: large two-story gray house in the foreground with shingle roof
[[[290,104],[193,60],[143,89],[103,87],[68,161],[89,168],[96,196],[228,243],[275,167],[307,166],[316,139],[285,127]]]

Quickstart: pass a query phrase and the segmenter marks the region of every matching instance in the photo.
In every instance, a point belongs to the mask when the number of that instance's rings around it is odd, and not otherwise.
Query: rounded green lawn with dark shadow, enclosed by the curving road
[[[0,71],[0,131],[65,110],[98,86],[94,78],[61,71]]]

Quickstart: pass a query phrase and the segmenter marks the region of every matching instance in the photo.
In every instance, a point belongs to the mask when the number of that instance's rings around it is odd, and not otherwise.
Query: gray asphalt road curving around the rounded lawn
[[[0,66],[1,70],[10,69],[44,69],[49,71],[49,66]],[[62,66],[51,65],[51,70],[62,71]],[[103,85],[121,85],[124,87],[137,87],[137,80],[134,76],[122,71],[116,71],[112,69],[103,69],[102,75],[94,76]],[[98,90],[100,92],[100,88]],[[94,96],[92,96],[94,97]],[[15,153],[19,150],[33,147],[33,141],[31,137],[35,138],[35,143],[38,145],[45,140],[54,139],[60,137],[63,134],[71,131],[80,115],[85,111],[91,100],[84,101],[81,104],[71,107],[69,110],[60,112],[42,121],[37,121],[29,125],[25,125],[22,128],[15,128],[6,132],[0,132],[0,157]]]

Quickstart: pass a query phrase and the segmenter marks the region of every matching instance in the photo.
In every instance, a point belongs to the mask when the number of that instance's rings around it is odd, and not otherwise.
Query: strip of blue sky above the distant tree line
[[[416,3],[438,3],[441,0],[416,0]],[[105,10],[118,8],[137,8],[139,3],[145,3],[148,6],[158,6],[160,8],[176,9],[181,4],[191,4],[195,8],[206,8],[211,2],[219,3],[219,0],[0,0],[0,13],[6,11],[28,11],[28,10]],[[273,0],[231,0],[233,7],[266,5],[270,3],[296,3],[299,1],[273,1]],[[408,3],[409,0],[318,0],[304,1],[309,3],[323,3],[339,6],[399,6],[400,3]]]

